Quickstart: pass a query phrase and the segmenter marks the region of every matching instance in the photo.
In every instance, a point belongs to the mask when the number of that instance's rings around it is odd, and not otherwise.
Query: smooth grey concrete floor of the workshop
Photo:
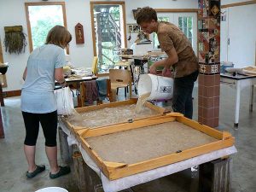
[[[120,93],[123,91],[120,91]],[[197,119],[197,89],[194,91],[194,119]],[[44,153],[44,136],[39,133],[36,159],[46,165],[46,172],[32,179],[26,179],[26,159],[23,153],[25,128],[20,113],[20,97],[5,99],[2,108],[5,138],[0,139],[0,192],[31,192],[49,186],[59,186],[69,192],[78,192],[73,181],[73,173],[55,180],[49,179],[48,160]],[[249,113],[249,90],[242,91],[240,127],[233,129],[235,110],[235,90],[222,85],[220,97],[219,130],[230,131],[236,137],[238,153],[233,156],[231,192],[256,191],[256,103],[253,113]],[[170,107],[168,107],[170,108]],[[60,164],[61,159],[59,155]],[[198,172],[186,170],[168,177],[133,187],[135,192],[195,192]]]

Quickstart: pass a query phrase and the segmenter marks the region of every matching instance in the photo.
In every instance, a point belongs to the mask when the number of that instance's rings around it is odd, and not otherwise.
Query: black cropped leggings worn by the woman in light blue
[[[41,124],[44,137],[45,146],[55,147],[58,115],[57,111],[51,113],[26,113],[22,112],[24,124],[26,127],[26,138],[24,144],[35,146],[38,140],[39,123]]]

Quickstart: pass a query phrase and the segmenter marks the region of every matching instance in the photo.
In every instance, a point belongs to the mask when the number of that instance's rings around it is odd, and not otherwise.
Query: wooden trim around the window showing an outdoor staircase
[[[127,47],[127,34],[126,34],[126,15],[125,15],[125,2],[90,2],[90,24],[91,24],[91,34],[92,34],[92,41],[93,41],[93,54],[96,56],[96,33],[94,29],[94,15],[93,15],[93,7],[94,5],[99,4],[119,4],[122,6],[122,12],[123,12],[123,27],[124,27],[124,35],[125,35],[125,47]]]

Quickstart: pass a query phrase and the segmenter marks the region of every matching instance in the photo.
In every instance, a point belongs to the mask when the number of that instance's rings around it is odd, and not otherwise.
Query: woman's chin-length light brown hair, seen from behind
[[[64,49],[71,40],[72,36],[66,27],[54,26],[48,32],[45,44],[55,44]]]

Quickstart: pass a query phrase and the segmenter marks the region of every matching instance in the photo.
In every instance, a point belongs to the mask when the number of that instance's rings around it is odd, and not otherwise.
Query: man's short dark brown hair
[[[136,14],[136,20],[138,25],[142,22],[149,22],[151,20],[157,21],[156,11],[149,7],[139,9]]]

